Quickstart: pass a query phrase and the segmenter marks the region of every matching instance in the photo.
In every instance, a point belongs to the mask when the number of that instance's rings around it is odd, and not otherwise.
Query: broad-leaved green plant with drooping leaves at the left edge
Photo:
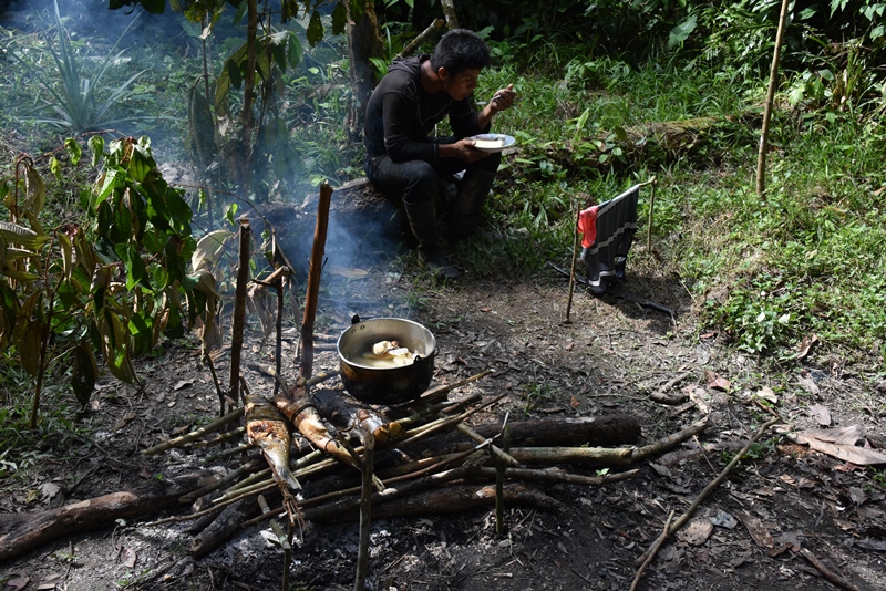
[[[162,335],[184,333],[202,319],[212,325],[215,279],[203,263],[188,274],[197,242],[192,210],[151,155],[150,141],[89,142],[92,164],[102,164],[92,188],[81,194],[87,225],[64,224],[44,231],[38,216],[45,185],[33,160],[19,157],[17,176],[3,185],[11,220],[0,222],[0,345],[13,345],[18,363],[35,377],[31,426],[37,427],[50,346],[72,360],[71,386],[85,404],[97,376],[95,353],[109,371],[136,381],[132,359],[148,353]],[[72,165],[82,157],[70,141]],[[27,221],[30,227],[20,221]]]

